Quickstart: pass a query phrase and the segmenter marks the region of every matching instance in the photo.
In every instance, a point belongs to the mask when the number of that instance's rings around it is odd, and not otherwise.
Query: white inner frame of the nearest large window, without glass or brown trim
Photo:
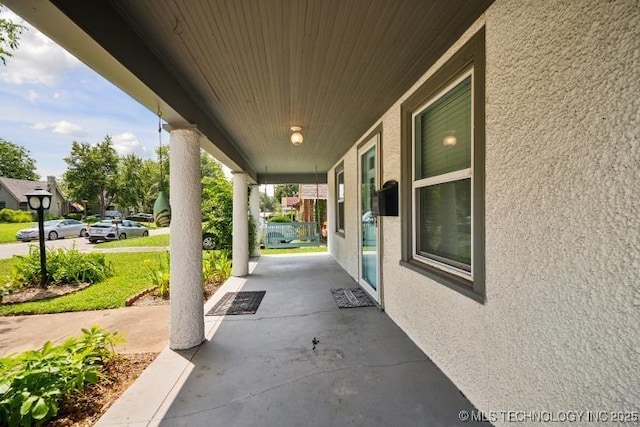
[[[469,68],[467,71],[465,71],[464,73],[462,73],[457,79],[455,79],[452,83],[450,83],[449,85],[447,85],[444,89],[442,89],[441,91],[439,91],[438,93],[436,93],[431,99],[429,99],[426,103],[424,103],[423,105],[421,105],[420,107],[418,107],[415,112],[411,115],[411,143],[413,146],[413,150],[412,150],[412,170],[411,170],[411,177],[412,177],[412,186],[411,186],[411,195],[412,195],[412,199],[411,199],[411,205],[413,207],[412,209],[412,225],[411,225],[411,233],[412,233],[412,242],[413,242],[413,258],[423,262],[425,264],[431,265],[433,267],[439,268],[441,270],[444,270],[450,274],[454,274],[456,276],[462,277],[464,279],[473,281],[473,225],[474,225],[474,203],[475,203],[475,198],[474,198],[474,183],[473,183],[473,159],[474,159],[474,147],[475,147],[475,140],[474,140],[474,132],[471,132],[471,161],[470,161],[470,167],[466,168],[466,169],[460,169],[457,171],[453,171],[453,172],[449,172],[449,173],[445,173],[445,174],[441,174],[441,175],[437,175],[437,176],[433,176],[433,177],[429,177],[429,178],[422,178],[419,180],[416,180],[416,126],[415,126],[415,120],[416,117],[419,116],[422,112],[424,112],[425,109],[427,109],[429,106],[431,106],[433,103],[435,103],[436,101],[438,101],[440,98],[442,98],[444,95],[446,95],[447,93],[449,93],[449,91],[451,91],[454,87],[456,87],[458,84],[460,84],[462,81],[464,81],[466,78],[468,78],[469,76],[471,76],[471,129],[473,130],[474,127],[474,123],[475,123],[475,117],[474,117],[474,108],[473,106],[475,105],[474,103],[474,69],[473,67]],[[470,271],[466,271],[460,268],[456,268],[452,265],[446,264],[444,262],[440,262],[436,259],[433,258],[429,258],[426,257],[422,254],[420,254],[420,252],[418,251],[418,205],[419,205],[419,200],[418,200],[418,191],[421,188],[425,188],[425,187],[430,187],[433,185],[438,185],[438,184],[445,184],[445,183],[449,183],[449,182],[456,182],[456,181],[462,181],[464,179],[470,179],[471,180],[471,262],[470,262]]]

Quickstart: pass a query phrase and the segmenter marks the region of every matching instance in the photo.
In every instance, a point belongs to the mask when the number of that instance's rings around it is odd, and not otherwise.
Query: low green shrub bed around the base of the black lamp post
[[[40,251],[32,246],[27,256],[14,256],[13,282],[23,286],[96,283],[113,276],[113,265],[103,254],[83,254],[76,248],[47,249],[48,283],[42,283]]]

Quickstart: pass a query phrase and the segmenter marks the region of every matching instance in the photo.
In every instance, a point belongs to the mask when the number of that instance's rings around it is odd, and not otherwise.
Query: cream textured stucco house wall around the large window
[[[640,3],[496,1],[381,118],[383,182],[402,101],[482,25],[486,303],[401,267],[384,218],[385,309],[481,410],[638,411]],[[355,144],[344,162],[354,191]],[[332,243],[357,275],[357,242]]]

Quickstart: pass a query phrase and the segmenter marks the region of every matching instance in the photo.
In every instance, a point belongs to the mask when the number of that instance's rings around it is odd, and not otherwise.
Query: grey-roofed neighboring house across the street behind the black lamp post
[[[69,202],[56,183],[56,179],[48,176],[46,181],[28,181],[0,177],[0,209],[29,210],[26,193],[41,187],[52,194],[51,208],[46,211],[52,216],[60,216],[69,212]]]

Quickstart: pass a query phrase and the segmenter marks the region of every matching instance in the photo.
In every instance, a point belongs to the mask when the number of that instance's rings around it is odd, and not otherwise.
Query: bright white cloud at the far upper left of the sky
[[[0,81],[9,84],[54,85],[63,73],[80,65],[73,55],[52,42],[13,12],[6,11],[0,17],[18,22],[26,30],[20,35],[20,45],[7,60],[0,72]]]

